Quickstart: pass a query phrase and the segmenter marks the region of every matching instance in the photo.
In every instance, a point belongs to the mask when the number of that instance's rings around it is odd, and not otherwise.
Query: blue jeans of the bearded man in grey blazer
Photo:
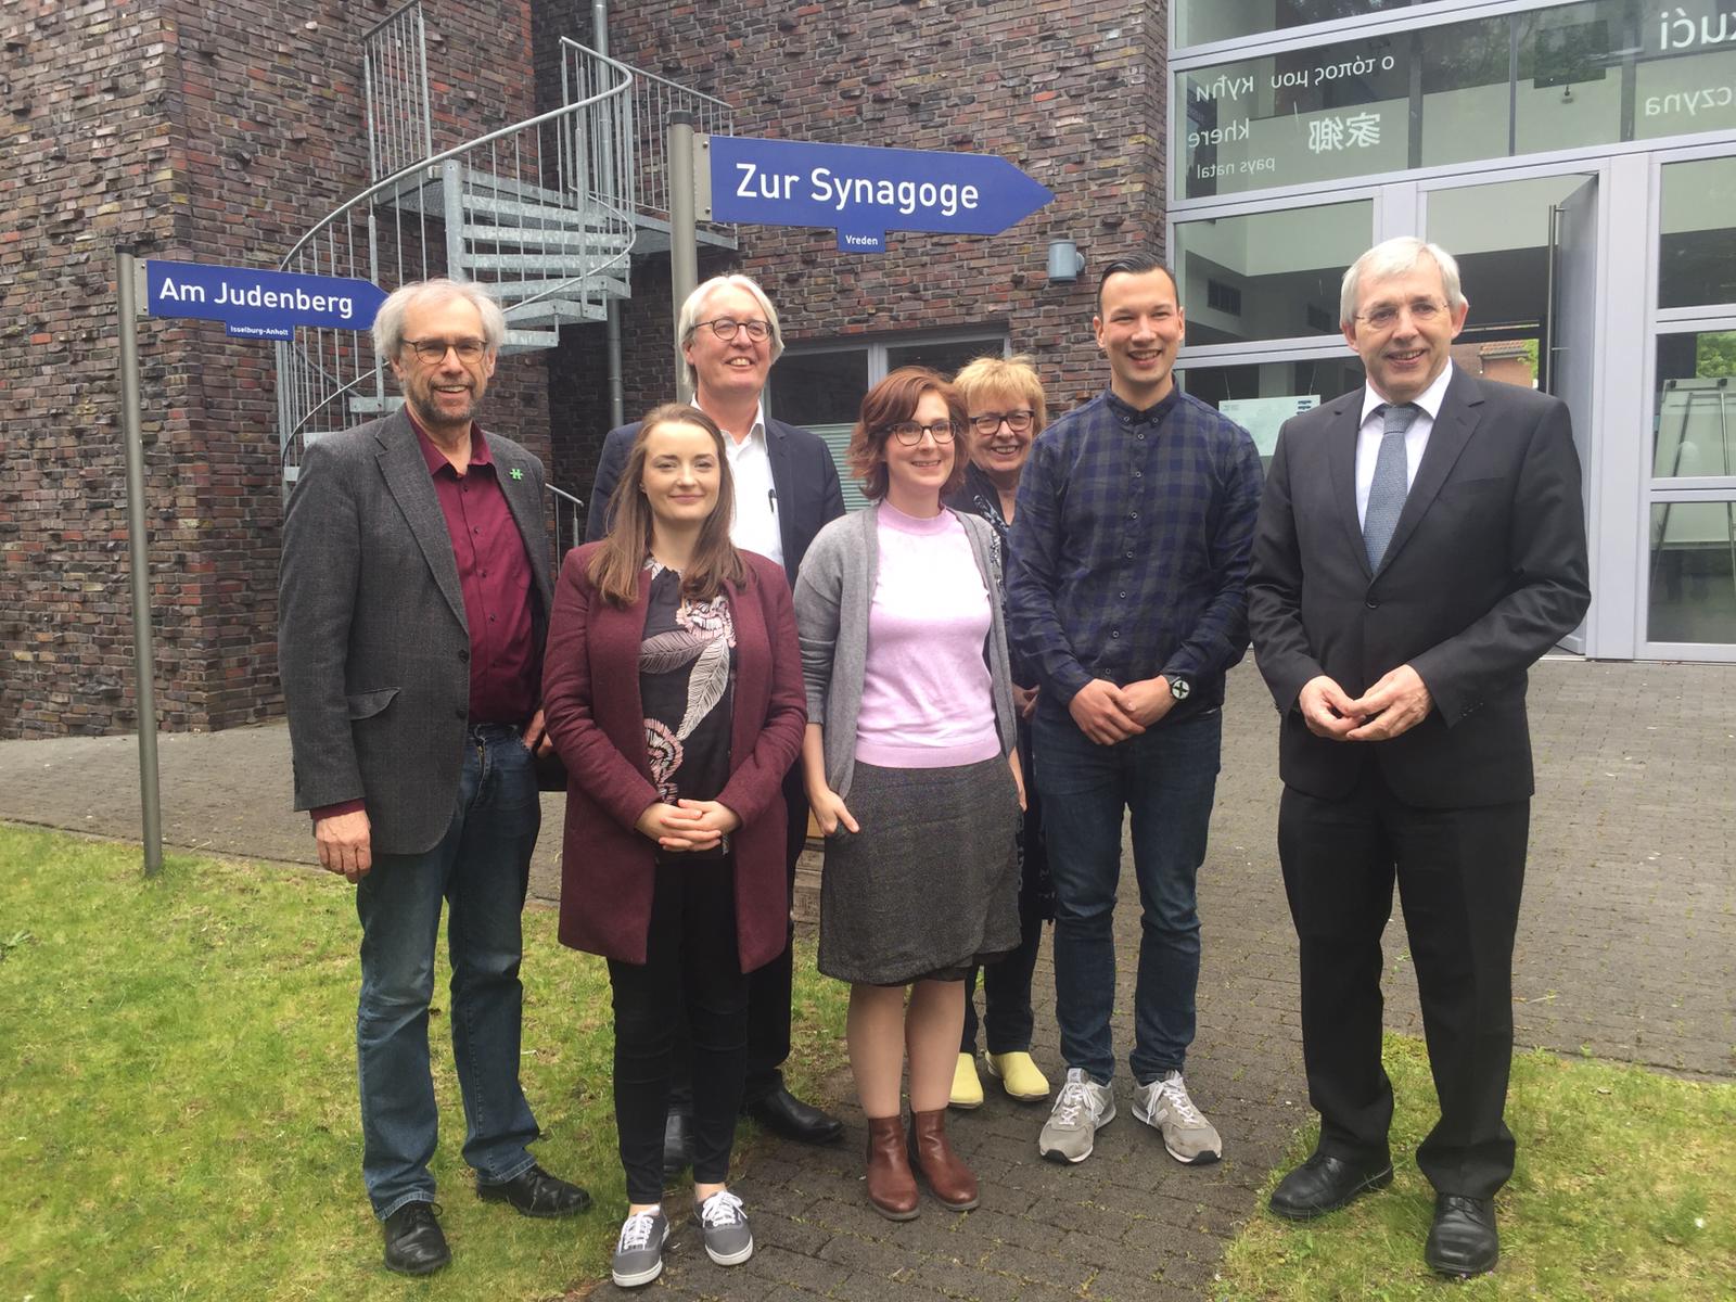
[[[451,908],[451,1047],[464,1095],[464,1160],[481,1184],[531,1167],[536,1118],[519,1088],[519,915],[542,825],[531,753],[509,726],[472,727],[451,825],[425,854],[378,854],[356,887],[361,1000],[361,1177],[382,1220],[432,1201],[439,1137],[429,1000],[441,899]]]

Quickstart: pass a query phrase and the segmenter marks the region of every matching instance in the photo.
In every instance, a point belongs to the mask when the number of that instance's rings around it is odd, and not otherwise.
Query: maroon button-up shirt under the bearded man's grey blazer
[[[460,476],[415,417],[410,424],[458,562],[464,620],[470,627],[470,722],[524,724],[536,713],[542,686],[531,618],[535,578],[488,437],[481,425],[470,425],[470,465]],[[318,823],[365,807],[363,800],[344,800],[307,812]]]

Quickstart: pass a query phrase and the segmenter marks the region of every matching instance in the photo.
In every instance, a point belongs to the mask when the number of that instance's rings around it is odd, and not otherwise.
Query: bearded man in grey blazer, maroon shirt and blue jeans
[[[429,1000],[450,903],[450,1023],[477,1196],[582,1212],[526,1147],[519,915],[542,818],[543,467],[476,406],[505,339],[477,286],[408,285],[373,325],[404,410],[307,450],[283,521],[278,656],[295,807],[356,885],[363,1180],[385,1264],[450,1260],[434,1219]]]

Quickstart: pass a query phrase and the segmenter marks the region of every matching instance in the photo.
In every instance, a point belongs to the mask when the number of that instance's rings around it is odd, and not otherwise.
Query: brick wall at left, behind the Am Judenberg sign
[[[128,731],[113,247],[276,266],[366,184],[359,38],[394,3],[21,0],[0,17],[0,736]],[[533,111],[529,0],[429,7],[436,148]],[[281,710],[271,347],[141,321],[158,710]],[[547,453],[545,366],[486,420]]]

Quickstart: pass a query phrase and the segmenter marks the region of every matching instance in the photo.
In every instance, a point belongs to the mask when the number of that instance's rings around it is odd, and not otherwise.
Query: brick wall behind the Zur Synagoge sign
[[[547,36],[589,42],[590,7],[538,7]],[[1137,0],[830,0],[611,5],[611,54],[729,101],[736,132],[995,153],[1055,191],[1000,236],[894,233],[887,253],[837,252],[830,231],[741,227],[741,269],[767,288],[792,342],[1005,326],[1038,361],[1059,411],[1108,380],[1090,337],[1097,269],[1163,241],[1165,7]],[[545,35],[547,36],[545,36]],[[1050,285],[1050,240],[1087,257]],[[623,312],[627,410],[672,394],[668,262],[635,273]],[[608,427],[602,330],[569,332],[552,363],[557,479],[587,493]]]

